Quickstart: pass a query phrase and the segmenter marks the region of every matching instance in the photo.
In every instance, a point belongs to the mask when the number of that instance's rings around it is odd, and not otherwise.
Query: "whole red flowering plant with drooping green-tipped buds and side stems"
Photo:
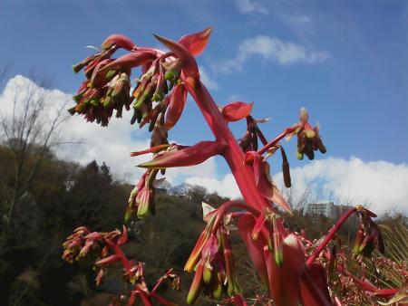
[[[301,109],[295,125],[268,140],[260,129],[260,124],[267,120],[256,120],[251,116],[253,103],[236,101],[218,107],[200,80],[195,59],[205,50],[211,32],[209,27],[184,35],[178,41],[154,35],[170,50],[167,52],[136,45],[121,34],[109,36],[102,43],[101,51],[73,66],[74,72],[84,71],[85,81],[73,97],[76,105],[69,111],[106,126],[113,111],[120,118],[123,108],[132,110],[131,124],[137,122],[140,128],[147,126],[151,132],[151,148],[131,153],[131,156],[152,154],[153,157],[139,165],[145,168],[145,172],[131,191],[125,222],[133,217],[145,218],[149,212],[154,214],[155,182],[157,176],[165,174],[166,168],[199,165],[217,155],[225,158],[243,200],[228,201],[205,216],[207,225],[184,267],[186,272],[195,273],[189,288],[188,304],[203,293],[219,301],[225,298],[227,303],[246,305],[230,243],[233,232],[229,228],[232,225],[238,227],[238,234],[246,244],[253,266],[274,304],[330,305],[332,299],[339,304],[339,299],[328,293],[329,284],[325,268],[320,263],[321,254],[327,253],[328,244],[353,214],[361,216],[353,254],[367,255],[374,247],[383,252],[383,238],[372,220],[375,215],[362,206],[351,209],[339,219],[325,239],[313,247],[306,234],[287,230],[284,215],[278,215],[278,211],[291,214],[291,206],[272,181],[267,158],[280,149],[285,186],[290,187],[288,158],[280,141],[296,135],[297,158],[303,159],[306,155],[314,159],[316,150],[326,151],[320,127],[312,127],[306,109]],[[113,58],[118,49],[128,53]],[[140,74],[131,89],[134,68],[140,68]],[[188,95],[197,103],[214,140],[199,141],[192,146],[170,144],[169,132],[183,120]],[[237,140],[228,124],[238,120],[246,120],[247,130]],[[231,211],[231,208],[234,210]],[[128,260],[121,251],[121,245],[126,241],[126,227],[110,233],[92,233],[86,227],[79,227],[63,244],[63,259],[73,263],[89,253],[96,253],[97,283],[102,282],[108,268],[121,263],[125,279],[132,288],[128,305],[137,300],[144,305],[152,305],[153,301],[172,305],[160,297],[156,289],[164,281],[178,287],[178,277],[165,273],[149,290],[144,281],[144,264]],[[310,248],[314,249],[309,252]],[[333,258],[328,266],[335,269]]]

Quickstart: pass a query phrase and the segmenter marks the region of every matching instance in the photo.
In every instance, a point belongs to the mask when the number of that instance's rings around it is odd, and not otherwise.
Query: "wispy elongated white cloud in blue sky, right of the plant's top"
[[[219,72],[240,71],[244,62],[247,62],[254,55],[260,55],[267,61],[282,65],[315,64],[324,62],[330,57],[326,51],[309,50],[297,43],[284,42],[276,37],[257,35],[239,43],[235,59],[214,66],[214,69]]]

